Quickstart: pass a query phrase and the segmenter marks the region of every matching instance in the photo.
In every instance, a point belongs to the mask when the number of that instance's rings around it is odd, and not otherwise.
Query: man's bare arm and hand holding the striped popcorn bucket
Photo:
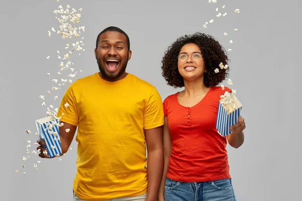
[[[61,149],[62,149],[62,154],[60,154],[60,156],[62,156],[63,154],[65,154],[68,149],[69,146],[73,140],[75,131],[77,130],[77,126],[71,125],[71,124],[67,124],[65,122],[60,122],[60,124],[63,123],[64,125],[59,127],[59,136],[60,136],[60,142],[61,142]],[[66,132],[66,129],[69,129],[69,132]],[[49,158],[48,155],[44,155],[43,151],[46,149],[42,148],[42,145],[44,145],[43,141],[39,141],[40,146],[37,147],[37,150],[40,149],[40,154],[39,156],[41,158]],[[51,157],[54,158],[54,157]]]

